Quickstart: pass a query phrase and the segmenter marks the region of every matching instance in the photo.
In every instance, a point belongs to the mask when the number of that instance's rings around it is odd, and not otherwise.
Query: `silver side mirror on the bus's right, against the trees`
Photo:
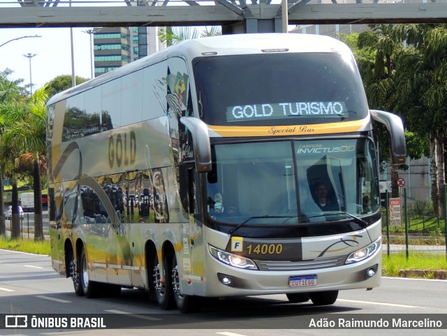
[[[372,119],[386,126],[390,133],[391,163],[403,164],[406,161],[405,131],[402,119],[393,113],[381,110],[369,110]]]

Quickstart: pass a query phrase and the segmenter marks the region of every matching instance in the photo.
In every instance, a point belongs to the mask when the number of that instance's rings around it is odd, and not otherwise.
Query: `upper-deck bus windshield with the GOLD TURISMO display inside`
[[[193,61],[200,118],[209,125],[323,124],[367,117],[351,57],[272,53]]]

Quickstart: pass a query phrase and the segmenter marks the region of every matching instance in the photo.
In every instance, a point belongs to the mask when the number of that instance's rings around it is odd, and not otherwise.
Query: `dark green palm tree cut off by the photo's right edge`
[[[411,45],[397,59],[400,99],[397,105],[414,130],[430,136],[432,202],[444,216],[447,116],[447,25],[402,24],[396,36]]]

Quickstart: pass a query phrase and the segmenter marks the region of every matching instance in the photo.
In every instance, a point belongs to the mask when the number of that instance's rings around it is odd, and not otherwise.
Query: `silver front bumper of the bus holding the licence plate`
[[[380,250],[358,263],[300,271],[242,270],[207,258],[205,295],[214,297],[373,288],[381,280]]]

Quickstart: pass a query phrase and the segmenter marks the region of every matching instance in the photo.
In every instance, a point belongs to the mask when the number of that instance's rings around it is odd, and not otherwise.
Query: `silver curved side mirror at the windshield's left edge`
[[[180,122],[188,128],[193,136],[194,160],[198,173],[211,171],[211,145],[208,126],[195,117],[181,117]]]

